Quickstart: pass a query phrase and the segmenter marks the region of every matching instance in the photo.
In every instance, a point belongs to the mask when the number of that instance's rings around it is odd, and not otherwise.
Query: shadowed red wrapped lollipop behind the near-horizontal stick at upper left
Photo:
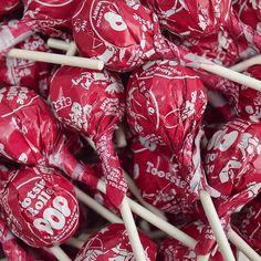
[[[17,24],[17,20],[9,21],[8,24]],[[46,52],[48,46],[36,34],[28,38],[18,44],[17,48]],[[24,59],[6,58],[0,63],[0,84],[2,86],[18,85],[34,90],[43,96],[48,93],[48,75],[51,65],[48,63],[38,63]]]

